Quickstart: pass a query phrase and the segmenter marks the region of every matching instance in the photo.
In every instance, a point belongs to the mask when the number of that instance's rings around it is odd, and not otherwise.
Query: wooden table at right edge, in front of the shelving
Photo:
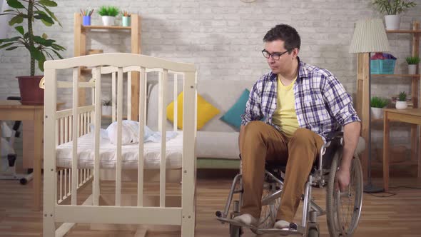
[[[404,123],[412,123],[415,125],[421,125],[421,109],[385,109],[384,110],[384,130],[383,130],[383,184],[385,191],[389,189],[389,133],[390,133],[390,121],[400,121]],[[418,178],[421,177],[421,134],[418,138],[418,146],[416,142],[412,142],[412,153],[415,153],[415,149],[418,148]],[[411,139],[412,141],[412,139]],[[412,158],[412,157],[411,157]]]

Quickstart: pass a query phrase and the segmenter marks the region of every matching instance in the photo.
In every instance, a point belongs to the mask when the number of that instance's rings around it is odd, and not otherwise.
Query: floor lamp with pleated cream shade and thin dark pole
[[[350,53],[368,53],[368,101],[371,100],[371,72],[370,72],[370,53],[387,52],[389,49],[389,41],[387,40],[385,26],[382,19],[365,19],[357,21],[355,24],[354,35],[352,36]],[[361,101],[358,101],[361,103]],[[363,108],[363,107],[362,107]],[[371,111],[368,106],[368,167],[367,185],[364,186],[365,193],[380,193],[383,188],[373,186],[371,183]]]

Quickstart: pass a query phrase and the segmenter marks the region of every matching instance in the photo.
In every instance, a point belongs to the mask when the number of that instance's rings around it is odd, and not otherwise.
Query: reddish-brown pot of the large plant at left
[[[44,89],[39,88],[39,81],[44,76],[16,76],[21,91],[21,104],[43,105]]]

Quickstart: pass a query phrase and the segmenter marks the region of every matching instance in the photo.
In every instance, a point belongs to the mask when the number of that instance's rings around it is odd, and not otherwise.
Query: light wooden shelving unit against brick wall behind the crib
[[[106,34],[121,34],[128,31],[131,34],[131,54],[141,54],[141,17],[131,15],[131,26],[83,26],[81,14],[74,14],[74,56],[86,55],[86,34],[90,31],[105,30]],[[90,69],[79,69],[79,81],[86,81]],[[131,72],[131,118],[138,118],[139,73]],[[83,106],[86,94],[79,89],[79,106]]]

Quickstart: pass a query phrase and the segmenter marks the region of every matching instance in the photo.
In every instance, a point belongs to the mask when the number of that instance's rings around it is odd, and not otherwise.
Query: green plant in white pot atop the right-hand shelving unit
[[[387,14],[385,16],[386,29],[399,29],[400,16],[402,11],[406,11],[416,4],[413,1],[405,0],[374,0],[373,4],[377,7],[380,13]]]

